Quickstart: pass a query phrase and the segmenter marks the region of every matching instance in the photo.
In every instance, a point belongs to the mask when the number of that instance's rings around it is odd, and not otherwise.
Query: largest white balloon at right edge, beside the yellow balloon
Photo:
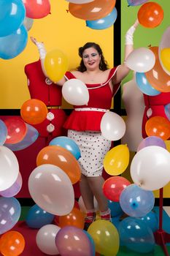
[[[142,189],[161,189],[170,181],[170,153],[160,146],[148,146],[131,162],[131,178]]]

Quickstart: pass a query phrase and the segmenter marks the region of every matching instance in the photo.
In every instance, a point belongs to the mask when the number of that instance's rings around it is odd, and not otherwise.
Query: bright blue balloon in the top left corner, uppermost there
[[[26,8],[20,0],[0,1],[0,37],[6,37],[16,31],[26,17]]]

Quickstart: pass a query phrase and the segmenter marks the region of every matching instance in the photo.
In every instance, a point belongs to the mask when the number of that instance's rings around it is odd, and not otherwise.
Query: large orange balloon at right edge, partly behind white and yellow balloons
[[[150,70],[145,72],[150,85],[158,91],[170,91],[170,75],[168,75],[162,68],[158,56],[158,46],[151,47],[150,50],[155,54],[155,65]]]

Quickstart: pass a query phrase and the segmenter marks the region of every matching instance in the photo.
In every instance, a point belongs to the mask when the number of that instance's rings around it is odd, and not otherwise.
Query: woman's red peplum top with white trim
[[[113,92],[110,89],[109,81],[113,78],[117,71],[117,67],[110,69],[109,76],[105,83],[86,84],[89,91],[88,105],[74,106],[76,108],[96,108],[98,110],[73,110],[69,118],[67,118],[64,128],[74,129],[77,131],[98,131],[100,132],[101,118],[104,111],[109,110],[112,104],[112,97],[120,87],[120,83],[114,86]],[[66,72],[67,80],[75,78],[71,72]],[[101,111],[100,111],[101,110]]]

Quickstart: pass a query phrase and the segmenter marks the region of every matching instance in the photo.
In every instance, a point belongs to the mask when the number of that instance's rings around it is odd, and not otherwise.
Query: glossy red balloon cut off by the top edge
[[[26,17],[39,19],[50,13],[50,1],[48,0],[23,0],[26,7]]]

